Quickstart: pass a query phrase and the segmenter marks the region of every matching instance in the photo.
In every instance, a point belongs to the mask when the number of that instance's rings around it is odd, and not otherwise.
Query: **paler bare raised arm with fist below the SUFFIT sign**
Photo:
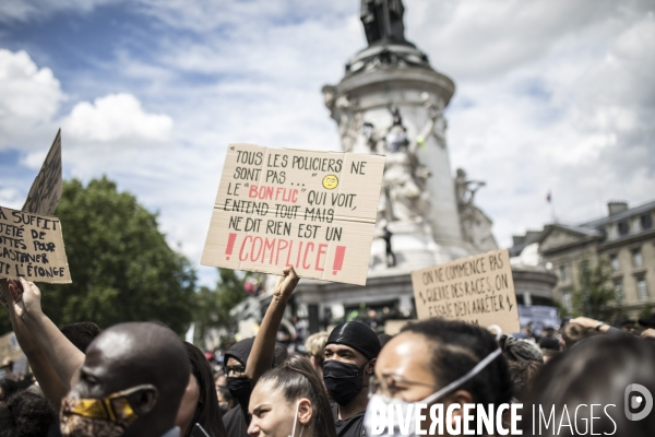
[[[36,345],[59,376],[64,390],[70,390],[74,379],[76,380],[78,370],[84,364],[84,354],[41,311],[40,291],[33,282],[22,277],[20,282],[12,281],[9,293],[15,316],[32,334]]]

